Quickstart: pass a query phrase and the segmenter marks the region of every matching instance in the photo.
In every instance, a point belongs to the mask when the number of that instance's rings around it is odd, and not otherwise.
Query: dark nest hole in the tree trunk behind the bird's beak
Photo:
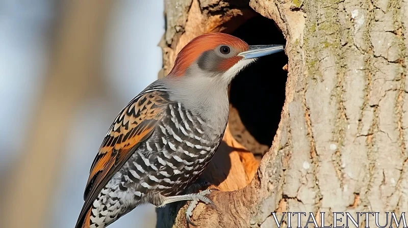
[[[249,45],[285,44],[275,22],[261,15],[238,27],[232,35]],[[263,56],[240,72],[230,88],[230,130],[257,158],[269,150],[281,121],[288,63],[285,52]]]

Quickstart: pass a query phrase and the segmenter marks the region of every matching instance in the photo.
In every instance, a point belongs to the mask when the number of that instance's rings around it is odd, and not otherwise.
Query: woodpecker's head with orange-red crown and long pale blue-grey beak
[[[249,46],[228,34],[210,33],[190,41],[177,55],[171,77],[217,77],[230,82],[257,58],[284,50],[284,45]]]

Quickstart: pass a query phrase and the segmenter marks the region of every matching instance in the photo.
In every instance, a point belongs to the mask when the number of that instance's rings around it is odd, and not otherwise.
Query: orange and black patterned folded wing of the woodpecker
[[[133,99],[116,117],[92,163],[84,192],[85,203],[75,227],[86,227],[83,224],[89,219],[93,201],[139,143],[150,136],[167,103],[164,92],[145,93]]]

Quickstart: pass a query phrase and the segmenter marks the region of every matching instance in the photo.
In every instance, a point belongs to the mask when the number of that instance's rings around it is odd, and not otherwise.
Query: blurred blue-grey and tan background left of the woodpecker
[[[163,0],[0,0],[0,227],[69,227],[117,113],[162,67]],[[142,206],[110,227],[154,227]]]

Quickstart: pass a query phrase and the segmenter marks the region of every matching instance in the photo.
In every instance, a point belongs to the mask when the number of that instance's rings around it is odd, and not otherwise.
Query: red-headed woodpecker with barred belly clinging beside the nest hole
[[[75,228],[104,228],[138,205],[191,201],[214,205],[214,189],[183,194],[205,170],[228,121],[227,88],[259,57],[284,45],[254,45],[224,33],[203,34],[177,54],[117,115],[91,165]],[[248,95],[254,96],[255,95]]]

